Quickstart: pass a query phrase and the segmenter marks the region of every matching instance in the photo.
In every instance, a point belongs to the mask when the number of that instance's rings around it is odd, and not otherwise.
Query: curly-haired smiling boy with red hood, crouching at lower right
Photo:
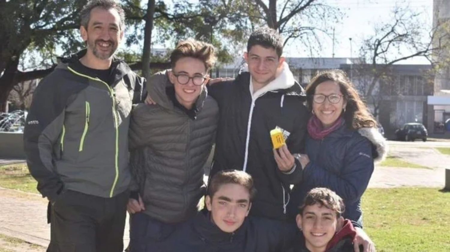
[[[308,192],[296,221],[302,236],[296,252],[353,252],[356,230],[344,220],[345,205],[336,193],[317,187]],[[362,245],[360,250],[362,251]]]

